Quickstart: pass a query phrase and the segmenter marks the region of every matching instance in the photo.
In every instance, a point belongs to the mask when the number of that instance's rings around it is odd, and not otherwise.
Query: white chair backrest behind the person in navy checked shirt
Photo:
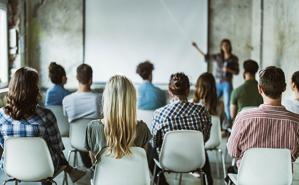
[[[205,164],[202,132],[178,130],[164,136],[159,156],[161,167],[174,172],[190,172]]]

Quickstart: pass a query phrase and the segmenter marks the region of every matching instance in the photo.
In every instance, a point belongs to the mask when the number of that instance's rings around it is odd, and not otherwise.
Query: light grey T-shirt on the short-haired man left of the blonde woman
[[[101,96],[94,92],[75,92],[62,100],[63,114],[72,122],[79,118],[100,118]]]

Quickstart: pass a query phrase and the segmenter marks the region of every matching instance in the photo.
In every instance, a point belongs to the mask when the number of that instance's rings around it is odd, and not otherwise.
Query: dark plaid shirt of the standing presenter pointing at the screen
[[[216,74],[215,78],[216,81],[221,82],[221,81],[230,81],[233,78],[233,74],[230,72],[224,72],[223,67],[225,63],[227,64],[227,68],[233,69],[234,71],[239,72],[239,63],[238,63],[238,57],[235,55],[231,54],[230,57],[228,57],[227,60],[223,60],[222,54],[207,54],[205,56],[205,60],[208,61],[213,61],[217,63],[217,68],[216,68]]]

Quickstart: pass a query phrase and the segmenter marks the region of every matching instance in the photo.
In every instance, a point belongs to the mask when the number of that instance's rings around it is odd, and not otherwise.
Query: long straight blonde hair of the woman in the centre
[[[105,137],[109,152],[107,157],[116,159],[130,156],[136,138],[137,93],[135,85],[124,75],[112,76],[103,92],[103,115]]]

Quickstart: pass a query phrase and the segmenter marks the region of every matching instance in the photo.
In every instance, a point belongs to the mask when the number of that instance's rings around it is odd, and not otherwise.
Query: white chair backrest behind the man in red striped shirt
[[[249,148],[237,176],[239,185],[292,183],[291,152],[287,148]]]

